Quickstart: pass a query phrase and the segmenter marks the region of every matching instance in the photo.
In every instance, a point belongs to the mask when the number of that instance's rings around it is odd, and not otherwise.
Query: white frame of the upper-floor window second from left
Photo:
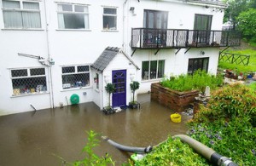
[[[72,5],[72,11],[60,11],[59,10],[59,5]],[[75,11],[75,6],[81,6],[81,7],[85,7],[87,8],[87,12],[76,12]],[[65,27],[60,27],[60,24],[65,24],[64,22],[61,23],[60,22],[60,16],[59,14],[84,14],[84,18],[85,15],[87,15],[87,25],[86,22],[84,20],[84,28],[65,28]],[[90,14],[89,14],[89,5],[88,4],[79,4],[79,3],[57,3],[57,20],[58,20],[58,30],[74,30],[74,31],[78,31],[78,30],[90,30]],[[64,17],[63,17],[64,19]],[[65,26],[65,25],[62,25]]]

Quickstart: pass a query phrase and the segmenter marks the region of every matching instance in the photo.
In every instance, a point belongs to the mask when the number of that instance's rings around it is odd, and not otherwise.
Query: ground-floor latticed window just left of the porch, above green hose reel
[[[90,66],[63,66],[62,89],[90,86]]]

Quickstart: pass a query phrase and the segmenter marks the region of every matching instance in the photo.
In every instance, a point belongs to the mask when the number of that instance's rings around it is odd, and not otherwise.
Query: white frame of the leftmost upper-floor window
[[[3,10],[3,25],[4,29],[20,29],[20,30],[41,30],[42,29],[42,18],[41,18],[41,5],[39,0],[29,1],[29,0],[5,0],[5,1],[12,1],[12,2],[19,2],[20,9],[15,8],[3,8],[3,0],[2,0],[2,10]],[[38,3],[39,9],[24,9],[23,3]],[[29,12],[29,13],[38,13],[39,14],[39,27],[24,27],[23,21],[21,21],[21,27],[7,27],[6,23],[4,23],[4,11],[16,11],[16,12]],[[21,19],[23,20],[24,17],[21,14]]]

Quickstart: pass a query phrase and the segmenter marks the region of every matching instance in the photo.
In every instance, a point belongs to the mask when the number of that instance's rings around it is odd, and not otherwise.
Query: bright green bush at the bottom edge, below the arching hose
[[[164,143],[160,144],[153,152],[143,157],[137,165],[209,165],[207,160],[193,150],[181,140],[169,137]]]

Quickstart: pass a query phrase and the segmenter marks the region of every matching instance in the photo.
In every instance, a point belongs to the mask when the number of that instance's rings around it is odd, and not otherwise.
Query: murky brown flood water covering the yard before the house
[[[150,94],[140,94],[140,110],[125,110],[105,115],[93,102],[77,106],[46,109],[0,117],[0,165],[62,165],[81,159],[90,129],[125,146],[154,146],[168,135],[185,134],[184,124],[172,123],[170,109],[150,101]],[[106,152],[116,165],[127,162],[131,153],[121,152],[102,141],[95,149]]]

